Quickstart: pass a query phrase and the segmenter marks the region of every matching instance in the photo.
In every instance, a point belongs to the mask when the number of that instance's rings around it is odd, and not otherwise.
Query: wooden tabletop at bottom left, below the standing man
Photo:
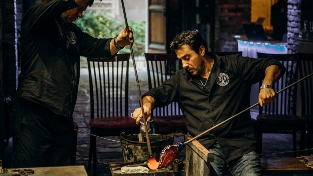
[[[17,168],[11,168],[8,169],[8,171],[14,170]],[[20,168],[18,168],[20,169]],[[24,169],[24,168],[22,168]],[[43,175],[49,175],[49,176],[60,176],[60,175],[66,175],[66,176],[88,176],[85,170],[85,167],[83,165],[77,165],[77,166],[58,166],[58,167],[41,167],[41,168],[27,168],[27,169],[33,169],[34,174],[31,174],[30,176],[43,176]]]

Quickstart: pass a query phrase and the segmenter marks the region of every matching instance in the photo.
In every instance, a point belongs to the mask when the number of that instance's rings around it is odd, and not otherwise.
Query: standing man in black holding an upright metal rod
[[[72,23],[93,2],[45,0],[22,19],[13,167],[70,164],[80,56],[113,58],[129,44],[126,28],[114,39],[96,39]]]

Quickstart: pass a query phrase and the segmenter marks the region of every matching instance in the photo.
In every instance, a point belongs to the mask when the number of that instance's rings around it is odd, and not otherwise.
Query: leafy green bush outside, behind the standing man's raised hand
[[[100,13],[84,13],[83,18],[77,19],[74,23],[84,32],[95,38],[112,38],[117,36],[125,28],[124,21],[118,22],[117,18],[110,18]],[[131,26],[134,33],[134,55],[143,56],[145,50],[145,21],[137,22],[130,20],[128,25]],[[129,46],[126,46],[119,53],[130,52]]]

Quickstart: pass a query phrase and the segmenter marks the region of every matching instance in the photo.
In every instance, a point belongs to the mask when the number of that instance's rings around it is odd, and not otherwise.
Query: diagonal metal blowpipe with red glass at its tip
[[[308,78],[308,77],[310,77],[312,75],[313,75],[313,73],[311,73],[310,75],[307,75],[307,76],[301,78],[300,80],[297,80],[296,82],[294,82],[294,83],[288,85],[287,87],[281,89],[280,91],[276,92],[276,95],[281,93],[282,91],[285,91],[286,89],[290,88],[291,86],[293,86],[295,84],[298,84],[302,80],[305,80],[306,78]],[[159,165],[158,165],[157,168],[158,169],[164,168],[164,167],[168,166],[169,164],[171,164],[175,160],[175,158],[177,157],[178,153],[180,151],[182,151],[183,148],[185,148],[187,143],[192,142],[195,139],[198,139],[202,135],[204,135],[204,134],[214,130],[215,128],[217,128],[217,127],[223,125],[224,123],[228,122],[229,120],[239,116],[240,114],[244,113],[245,111],[250,110],[251,108],[257,106],[258,104],[259,104],[259,102],[255,103],[254,105],[248,107],[247,109],[245,109],[245,110],[243,110],[243,111],[241,111],[241,112],[239,112],[239,113],[229,117],[228,119],[224,120],[223,122],[221,122],[221,123],[217,124],[216,126],[214,126],[214,127],[210,128],[210,129],[208,129],[208,130],[198,134],[197,136],[193,137],[192,139],[190,139],[190,140],[188,140],[186,142],[177,142],[175,145],[169,145],[169,146],[165,147],[162,150],[162,152],[161,152],[160,160],[159,160],[159,163],[158,163]]]

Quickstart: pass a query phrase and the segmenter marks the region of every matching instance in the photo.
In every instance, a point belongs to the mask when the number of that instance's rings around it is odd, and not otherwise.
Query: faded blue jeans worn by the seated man
[[[261,162],[256,152],[250,152],[240,158],[225,163],[221,148],[217,141],[208,150],[214,153],[214,162],[210,163],[217,175],[223,174],[226,166],[233,176],[259,176],[261,172]]]

